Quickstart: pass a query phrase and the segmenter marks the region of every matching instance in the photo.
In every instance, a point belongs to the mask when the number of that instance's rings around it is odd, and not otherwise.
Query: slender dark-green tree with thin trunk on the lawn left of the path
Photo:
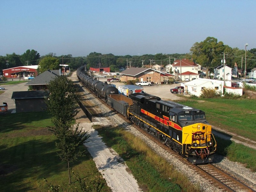
[[[68,163],[68,177],[70,177],[70,162],[73,162],[79,156],[84,156],[84,150],[80,150],[80,146],[89,137],[82,129],[78,130],[78,125],[73,128],[72,123],[75,119],[77,110],[76,95],[77,88],[74,87],[71,80],[66,76],[58,76],[48,86],[49,97],[46,99],[47,111],[52,116],[52,122],[55,127],[50,130],[58,138],[56,147],[60,149],[58,155],[62,161]]]

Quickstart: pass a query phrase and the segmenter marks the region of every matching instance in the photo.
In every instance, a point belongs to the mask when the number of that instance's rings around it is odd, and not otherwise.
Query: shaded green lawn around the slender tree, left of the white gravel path
[[[46,112],[1,115],[0,124],[1,191],[48,191],[43,178],[60,185],[62,191],[79,189],[74,177],[68,185],[67,163],[57,155],[56,138],[47,128],[53,124]],[[71,163],[71,168],[83,179],[99,175],[89,153]],[[105,180],[101,182],[101,191],[110,191]]]

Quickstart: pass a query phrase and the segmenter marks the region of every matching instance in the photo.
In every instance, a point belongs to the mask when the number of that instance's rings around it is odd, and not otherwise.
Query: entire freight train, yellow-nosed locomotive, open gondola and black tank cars
[[[217,144],[204,111],[142,92],[125,97],[118,94],[116,87],[90,77],[83,68],[76,72],[79,81],[104,98],[110,107],[188,161],[194,164],[212,162]]]

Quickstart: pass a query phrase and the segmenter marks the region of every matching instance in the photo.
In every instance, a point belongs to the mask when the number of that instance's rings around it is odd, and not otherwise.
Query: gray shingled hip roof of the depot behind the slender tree
[[[25,85],[46,85],[49,84],[51,80],[53,80],[56,76],[60,75],[60,70],[47,70],[44,73],[36,76],[34,79],[29,81]]]

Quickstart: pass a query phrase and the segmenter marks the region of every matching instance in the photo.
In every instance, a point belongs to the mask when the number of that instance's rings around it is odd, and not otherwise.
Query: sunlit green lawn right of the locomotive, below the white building
[[[256,141],[256,100],[215,98],[179,103],[203,110],[206,120],[214,126]]]

